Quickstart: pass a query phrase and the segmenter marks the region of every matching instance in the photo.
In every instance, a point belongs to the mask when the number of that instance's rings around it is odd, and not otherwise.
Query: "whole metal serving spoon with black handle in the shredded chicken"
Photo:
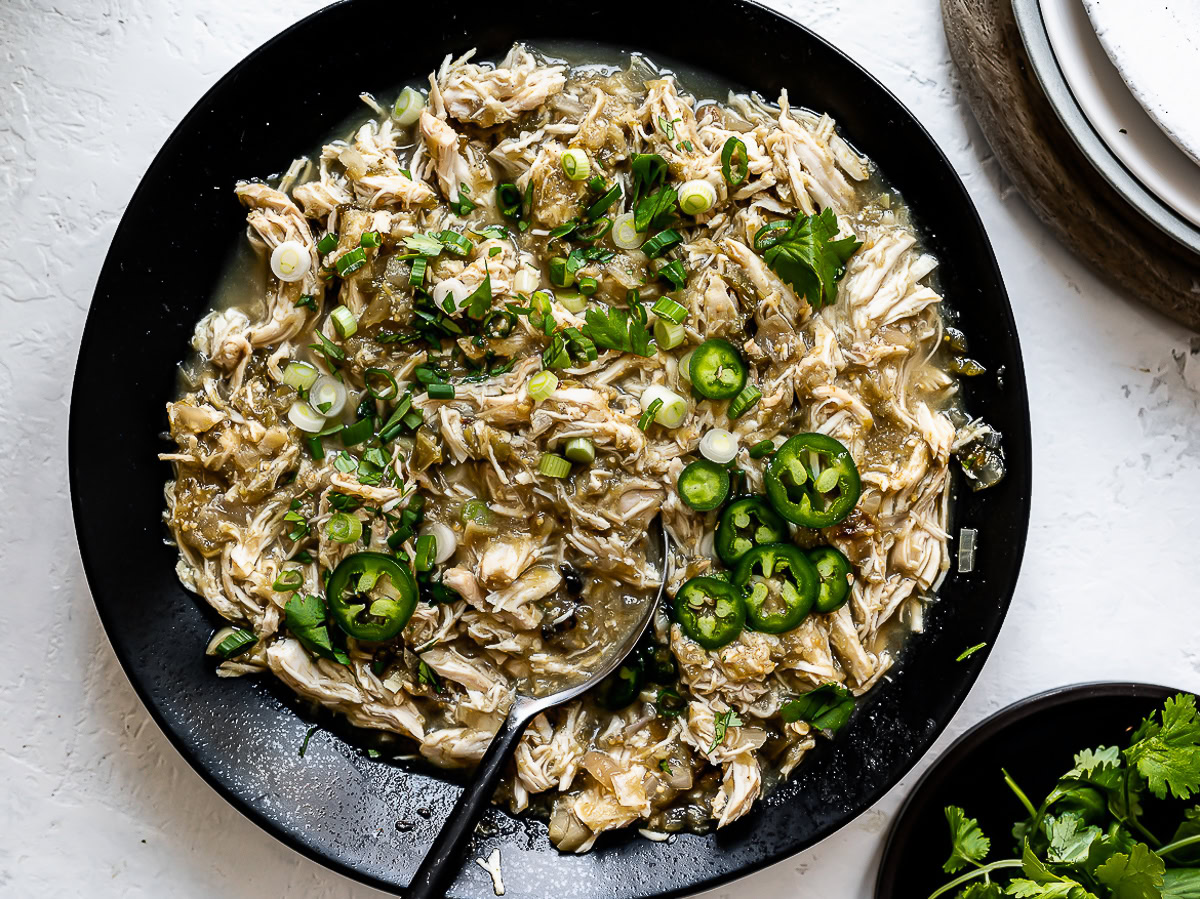
[[[652,526],[650,532],[653,533],[653,531]],[[650,556],[655,555],[655,541],[650,541],[649,549]],[[408,899],[438,899],[445,895],[450,882],[462,867],[462,853],[470,840],[470,835],[475,832],[475,825],[491,802],[492,795],[496,792],[496,785],[504,774],[508,761],[512,756],[512,753],[516,751],[517,743],[521,742],[521,736],[524,733],[528,724],[542,712],[574,700],[576,696],[590,690],[616,671],[620,663],[625,660],[625,657],[637,646],[637,642],[642,639],[642,634],[646,633],[647,625],[649,625],[650,619],[654,617],[654,610],[662,599],[662,592],[666,589],[667,550],[667,532],[666,527],[662,527],[661,557],[659,558],[659,570],[662,573],[662,582],[659,585],[659,592],[654,599],[647,600],[637,625],[629,631],[625,640],[614,647],[594,671],[590,671],[583,679],[548,696],[517,694],[512,701],[512,706],[509,708],[508,717],[500,725],[500,730],[492,738],[487,751],[484,753],[484,757],[479,762],[479,767],[475,768],[474,778],[458,797],[458,802],[455,803],[446,822],[442,825],[442,831],[438,832],[433,845],[425,853],[425,861],[421,862],[421,867],[413,875],[413,881],[406,892]]]

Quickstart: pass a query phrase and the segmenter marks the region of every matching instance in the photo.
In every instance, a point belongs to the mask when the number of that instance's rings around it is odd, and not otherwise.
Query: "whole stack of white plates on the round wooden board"
[[[1013,0],[1013,12],[1079,149],[1200,253],[1200,0]]]

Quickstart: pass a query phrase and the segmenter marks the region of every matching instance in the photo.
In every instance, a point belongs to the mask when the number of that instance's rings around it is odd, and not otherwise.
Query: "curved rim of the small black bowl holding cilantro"
[[[904,859],[898,844],[902,839],[901,834],[911,826],[908,817],[919,815],[924,810],[926,797],[948,777],[948,772],[956,768],[996,735],[1039,712],[1069,706],[1080,700],[1114,696],[1165,700],[1177,693],[1192,693],[1192,690],[1172,689],[1139,681],[1086,681],[1026,696],[968,727],[925,769],[896,811],[895,820],[888,829],[888,838],[883,844],[880,871],[875,880],[875,899],[899,899],[899,897],[906,895],[900,892],[905,881],[901,871]]]

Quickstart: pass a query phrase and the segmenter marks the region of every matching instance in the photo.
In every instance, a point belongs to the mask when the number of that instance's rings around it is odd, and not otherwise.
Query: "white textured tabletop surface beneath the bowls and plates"
[[[0,4],[2,895],[380,895],[258,831],[150,721],[83,583],[65,477],[84,313],[140,173],[222,72],[317,5]],[[1057,684],[1200,689],[1200,356],[1188,356],[1189,335],[1114,295],[1033,220],[955,91],[934,0],[780,6],[881,78],[944,148],[996,245],[1025,343],[1037,445],[1026,565],[938,748]],[[913,779],[816,849],[708,899],[869,895]]]

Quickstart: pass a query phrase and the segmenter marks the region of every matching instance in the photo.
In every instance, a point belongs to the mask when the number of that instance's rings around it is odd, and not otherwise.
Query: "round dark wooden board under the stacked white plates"
[[[1100,277],[1200,330],[1200,257],[1145,221],[1080,152],[1042,91],[1009,0],[942,0],[950,56],[996,158]]]

